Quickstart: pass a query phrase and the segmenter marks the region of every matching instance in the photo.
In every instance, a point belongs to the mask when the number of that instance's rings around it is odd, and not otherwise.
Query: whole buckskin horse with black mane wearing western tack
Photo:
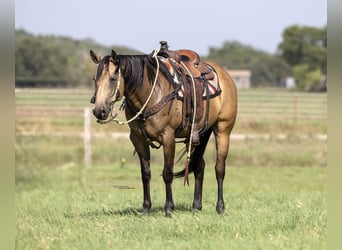
[[[150,147],[160,146],[163,147],[164,155],[162,176],[166,191],[165,216],[171,216],[174,209],[173,178],[183,176],[187,178],[188,173],[191,172],[195,177],[192,209],[202,209],[205,168],[203,154],[213,132],[218,189],[216,211],[220,214],[225,208],[223,200],[225,161],[229,151],[230,134],[237,115],[236,86],[228,72],[216,63],[199,60],[197,53],[190,50],[169,51],[166,42],[160,43],[160,50],[156,49],[148,55],[118,55],[112,50],[110,55],[100,57],[90,51],[92,61],[97,64],[93,78],[95,94],[91,98],[91,103],[94,104],[93,114],[100,123],[115,121],[117,113],[114,112],[114,104],[124,97],[121,108],[125,110],[127,122],[121,123],[129,125],[130,140],[140,160],[143,213],[148,213],[152,206]],[[191,57],[195,57],[195,60]],[[183,72],[180,68],[183,68]],[[202,116],[197,119],[200,130],[199,142],[197,145],[189,146],[194,132],[195,114],[191,112],[196,108],[194,104],[196,95],[193,90],[193,94],[184,93],[184,98],[179,98],[179,86],[191,85],[191,82],[195,82],[194,79],[200,78],[204,85],[208,85],[205,75],[212,75],[212,73],[217,76],[220,91],[211,98],[203,97],[203,100],[197,100],[201,105],[197,104],[198,108],[203,110]],[[184,77],[184,74],[187,76]],[[196,88],[196,84],[192,84],[192,87]],[[208,91],[208,87],[205,90]],[[184,108],[185,96],[188,96],[187,103],[191,106],[190,113]],[[187,167],[183,171],[174,173],[176,138],[183,138],[185,144],[189,146],[189,157]]]

